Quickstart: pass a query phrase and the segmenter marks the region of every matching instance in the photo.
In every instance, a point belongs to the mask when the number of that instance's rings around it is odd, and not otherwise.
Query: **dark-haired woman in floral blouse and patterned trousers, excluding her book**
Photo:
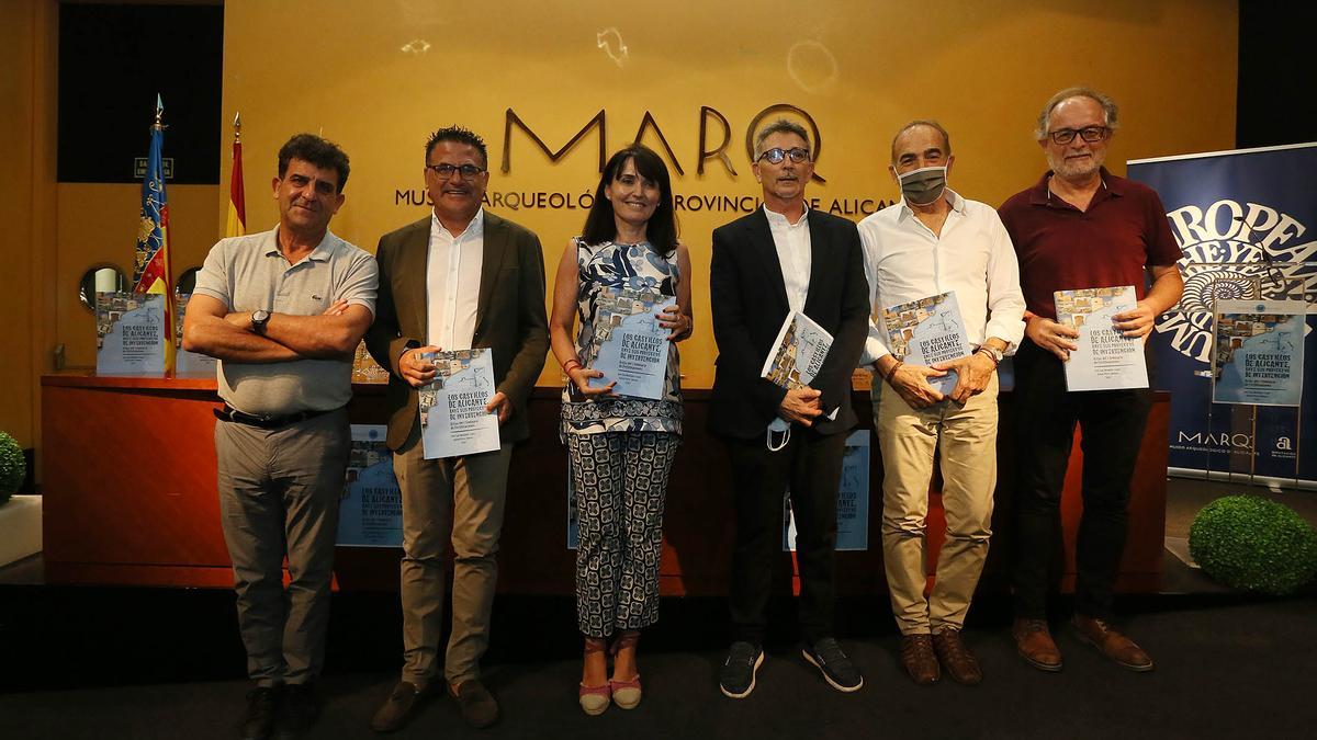
[[[591,369],[620,316],[639,312],[666,332],[657,398],[620,395],[616,378]],[[608,159],[585,230],[562,253],[549,320],[568,378],[562,437],[579,519],[577,620],[585,635],[579,700],[591,715],[610,698],[622,708],[640,703],[636,643],[658,620],[664,499],[681,441],[677,342],[690,332],[690,255],[677,242],[668,167],[632,145]]]

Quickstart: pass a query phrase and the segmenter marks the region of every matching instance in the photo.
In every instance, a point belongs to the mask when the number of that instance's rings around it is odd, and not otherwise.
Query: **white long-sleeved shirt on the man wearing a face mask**
[[[946,198],[951,211],[940,236],[905,199],[860,221],[872,307],[861,366],[892,354],[884,308],[947,291],[956,292],[965,337],[973,346],[997,337],[1006,341],[1006,354],[1014,354],[1023,338],[1019,263],[997,211],[951,188]]]

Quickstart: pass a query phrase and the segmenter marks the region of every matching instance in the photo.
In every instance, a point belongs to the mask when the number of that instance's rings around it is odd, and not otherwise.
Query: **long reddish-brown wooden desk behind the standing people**
[[[686,392],[686,435],[668,494],[661,587],[665,595],[722,595],[732,542],[730,471],[722,444],[705,429],[709,391]],[[1009,428],[1011,396],[1001,399]],[[213,378],[42,378],[42,492],[45,562],[51,583],[229,587],[233,578],[220,532],[211,410]],[[356,386],[354,423],[383,424],[382,386]],[[872,427],[868,394],[855,394],[861,424]],[[532,438],[514,453],[499,556],[499,589],[516,594],[572,594],[574,553],[566,549],[566,456],[557,438],[558,391],[536,388],[528,413]],[[1166,458],[1169,396],[1158,394],[1139,453],[1130,504],[1130,537],[1117,587],[1155,591],[1166,529]],[[1002,436],[993,544],[985,589],[1005,581],[1010,546],[1010,438]],[[158,452],[162,450],[162,452]],[[1063,502],[1065,569],[1081,508],[1079,444]],[[882,465],[872,448],[869,546],[838,553],[838,591],[881,590]],[[935,482],[936,485],[936,482]],[[940,499],[928,514],[930,562],[944,528]],[[398,587],[396,549],[340,548],[341,589]],[[793,587],[784,554],[778,589]]]

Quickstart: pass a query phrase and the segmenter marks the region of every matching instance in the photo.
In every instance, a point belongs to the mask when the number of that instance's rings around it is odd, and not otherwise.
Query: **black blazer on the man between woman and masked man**
[[[805,313],[832,334],[832,349],[810,387],[822,391],[824,413],[839,410],[835,420],[819,417],[814,429],[834,435],[856,424],[851,373],[868,336],[869,286],[853,223],[810,211],[809,228],[810,290]],[[790,311],[763,209],[714,230],[709,275],[718,341],[709,431],[739,438],[763,437],[786,388],[760,378],[760,370]]]

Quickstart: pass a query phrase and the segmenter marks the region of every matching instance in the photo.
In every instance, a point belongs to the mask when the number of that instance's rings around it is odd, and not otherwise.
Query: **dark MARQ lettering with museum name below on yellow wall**
[[[755,161],[755,133],[761,128],[765,120],[772,117],[789,117],[799,122],[806,132],[810,134],[810,140],[814,145],[814,159],[819,161],[823,153],[823,134],[819,130],[818,122],[814,120],[807,111],[798,108],[788,103],[777,103],[769,105],[751,117],[749,122],[745,125],[744,132],[744,150],[745,162],[753,163]],[[738,178],[740,172],[736,171],[736,165],[728,151],[735,151],[736,138],[732,136],[732,124],[722,112],[710,105],[701,105],[698,113],[698,142],[694,154],[695,174],[705,175],[706,165],[715,162],[722,165],[727,175],[732,179]],[[528,140],[518,146],[518,150],[529,149],[539,150],[543,157],[547,157],[551,165],[556,165],[568,157],[578,146],[585,146],[585,141],[590,133],[597,134],[598,147],[598,167],[603,171],[605,165],[610,157],[608,149],[608,115],[607,109],[601,109],[594,115],[581,129],[572,136],[562,146],[557,149],[545,144],[544,138],[531,128],[512,108],[508,108],[503,115],[503,141],[502,141],[502,161],[499,171],[503,175],[510,175],[512,172],[512,153],[514,142],[519,140]],[[636,129],[636,136],[628,140],[631,142],[644,142],[647,134],[652,134],[652,140],[657,144],[652,146],[658,151],[660,157],[665,157],[668,165],[673,170],[673,180],[684,178],[686,175],[686,166],[682,165],[684,158],[678,157],[677,151],[668,142],[666,134],[664,134],[662,128],[658,125],[658,120],[645,111],[644,116],[640,119],[640,125]],[[689,165],[690,158],[685,158]],[[815,170],[813,182],[827,183]],[[408,188],[408,187],[395,187],[394,188],[394,205],[427,205],[432,207],[433,201],[429,200],[425,194],[425,188]],[[589,211],[594,205],[594,184],[591,183],[582,191],[520,191],[520,190],[503,190],[491,188],[485,194],[485,205],[487,208],[508,208],[512,211],[520,209],[566,209],[566,211]],[[699,212],[699,211],[712,211],[718,213],[749,213],[763,205],[763,200],[757,196],[749,196],[743,194],[682,194],[673,192],[673,207],[682,212]],[[843,198],[811,198],[810,207],[819,211],[827,211],[838,216],[868,216],[874,213],[886,205],[889,201],[863,198],[863,196],[843,196]]]

